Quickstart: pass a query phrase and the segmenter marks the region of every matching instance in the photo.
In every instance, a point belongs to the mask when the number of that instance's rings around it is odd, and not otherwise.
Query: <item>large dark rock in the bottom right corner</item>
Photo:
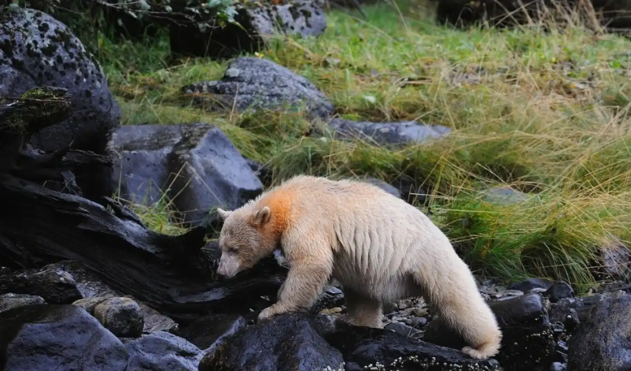
[[[618,291],[593,307],[568,342],[568,371],[631,370],[631,295]]]

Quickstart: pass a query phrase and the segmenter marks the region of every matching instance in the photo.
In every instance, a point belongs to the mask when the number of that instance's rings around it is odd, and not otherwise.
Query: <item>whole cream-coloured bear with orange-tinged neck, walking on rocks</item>
[[[382,328],[381,303],[423,296],[474,358],[498,353],[502,333],[469,267],[423,212],[360,181],[295,176],[224,219],[218,273],[232,277],[281,248],[290,265],[278,301],[259,319],[313,304],[341,282],[348,316]]]

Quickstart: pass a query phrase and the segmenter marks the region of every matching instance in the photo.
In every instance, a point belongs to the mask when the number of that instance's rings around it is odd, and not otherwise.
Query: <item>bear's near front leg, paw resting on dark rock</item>
[[[309,250],[307,250],[309,251]],[[295,312],[310,307],[321,294],[333,270],[332,259],[324,256],[307,256],[293,260],[281,287],[278,301],[263,309],[258,319],[276,314]]]

